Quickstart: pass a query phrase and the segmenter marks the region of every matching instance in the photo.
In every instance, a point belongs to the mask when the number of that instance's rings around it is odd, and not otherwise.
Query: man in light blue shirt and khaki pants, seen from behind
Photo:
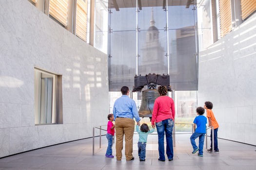
[[[122,159],[123,136],[125,136],[125,157],[127,161],[134,160],[133,157],[133,134],[135,122],[139,125],[139,116],[136,103],[129,98],[129,88],[122,86],[122,96],[116,100],[113,107],[116,128],[116,153],[117,160]]]

